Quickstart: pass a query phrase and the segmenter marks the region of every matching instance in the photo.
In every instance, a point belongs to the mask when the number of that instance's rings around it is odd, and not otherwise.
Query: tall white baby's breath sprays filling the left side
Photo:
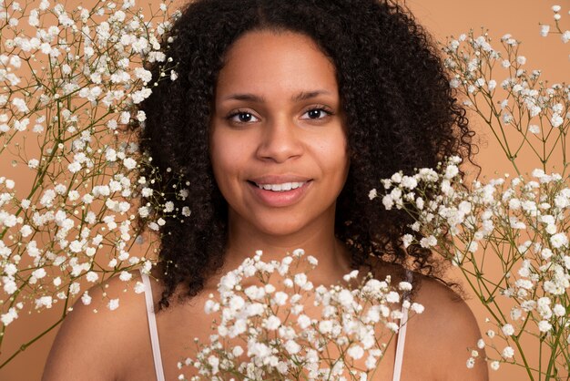
[[[162,50],[173,41],[165,34],[180,14],[168,16],[162,4],[161,12],[145,19],[132,0],[94,6],[66,9],[48,0],[0,5],[0,139],[18,151],[4,149],[2,161],[22,162],[34,181],[16,191],[13,180],[0,178],[4,326],[27,303],[43,310],[82,295],[90,304],[83,277],[97,283],[118,273],[127,282],[133,266],[142,264],[148,272],[152,265],[128,250],[137,239],[131,226],[137,213],[151,217],[157,209],[149,202],[136,211],[133,203],[153,180],[140,176],[146,163],[137,144],[118,134],[132,120],[144,125],[146,115],[134,113],[133,105],[148,98],[151,82],[162,80],[153,80],[147,63],[157,62],[162,75],[176,79],[176,63]],[[29,27],[19,26],[21,20]],[[39,153],[20,160],[21,132],[27,129],[38,135]],[[25,199],[16,196],[22,193]],[[188,197],[188,190],[177,193]],[[178,212],[172,203],[160,208]],[[189,216],[188,207],[181,214]],[[113,299],[107,307],[118,305]]]

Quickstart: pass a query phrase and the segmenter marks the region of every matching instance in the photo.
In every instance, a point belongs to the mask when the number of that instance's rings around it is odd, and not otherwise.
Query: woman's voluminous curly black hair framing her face
[[[438,278],[438,261],[417,246],[402,248],[410,217],[370,201],[369,191],[396,171],[435,168],[446,156],[471,160],[475,146],[433,38],[407,8],[391,0],[196,0],[165,36],[178,79],[162,80],[138,109],[141,151],[152,157],[165,194],[177,174],[190,182],[184,200],[160,227],[158,263],[168,307],[179,284],[199,293],[223,264],[228,205],[209,161],[209,121],[219,70],[234,41],[253,30],[310,36],[336,68],[351,167],[337,201],[335,234],[351,250],[352,267],[371,254]],[[165,42],[166,45],[166,42]],[[148,67],[153,82],[158,63]],[[151,82],[152,83],[152,82]],[[180,211],[191,216],[180,223]]]

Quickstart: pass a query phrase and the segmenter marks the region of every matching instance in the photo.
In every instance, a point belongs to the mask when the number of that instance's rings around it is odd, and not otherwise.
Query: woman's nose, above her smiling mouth
[[[257,149],[260,160],[281,163],[299,157],[302,152],[300,129],[294,122],[287,118],[279,118],[265,124]]]

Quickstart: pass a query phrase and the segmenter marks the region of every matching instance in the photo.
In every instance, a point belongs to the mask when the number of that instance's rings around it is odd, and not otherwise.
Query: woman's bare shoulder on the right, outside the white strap
[[[471,350],[481,338],[469,305],[443,283],[421,274],[416,276],[421,278],[421,286],[415,302],[425,310],[414,317],[415,322],[411,320],[409,329],[416,344],[413,346],[423,351],[423,356],[429,354],[433,379],[488,380],[483,350],[478,350],[479,357],[472,369],[466,366]]]

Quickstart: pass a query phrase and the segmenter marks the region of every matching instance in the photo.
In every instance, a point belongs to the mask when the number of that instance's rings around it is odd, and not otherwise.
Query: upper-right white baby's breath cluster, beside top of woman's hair
[[[500,116],[505,126],[512,125],[523,135],[526,131],[531,132],[539,139],[545,139],[539,126],[545,126],[546,123],[552,129],[567,128],[570,124],[568,111],[570,87],[555,84],[545,88],[545,82],[537,80],[541,74],[540,70],[527,73],[523,68],[526,57],[517,56],[518,42],[511,35],[504,35],[501,38],[506,47],[505,58],[501,52],[494,50],[490,41],[487,33],[475,37],[472,31],[468,36],[452,38],[447,46],[443,47],[447,55],[445,66],[453,75],[450,85],[467,96],[468,100],[464,105],[474,110],[478,104],[476,98],[493,98],[498,82],[489,77],[492,72],[490,68],[500,63],[508,70],[508,77],[500,82],[501,88],[506,90],[507,98],[500,102],[500,108],[496,108],[496,102],[491,102],[490,105],[494,114]],[[531,118],[537,119],[524,126],[522,120],[514,118],[514,115],[521,114],[528,114]]]

